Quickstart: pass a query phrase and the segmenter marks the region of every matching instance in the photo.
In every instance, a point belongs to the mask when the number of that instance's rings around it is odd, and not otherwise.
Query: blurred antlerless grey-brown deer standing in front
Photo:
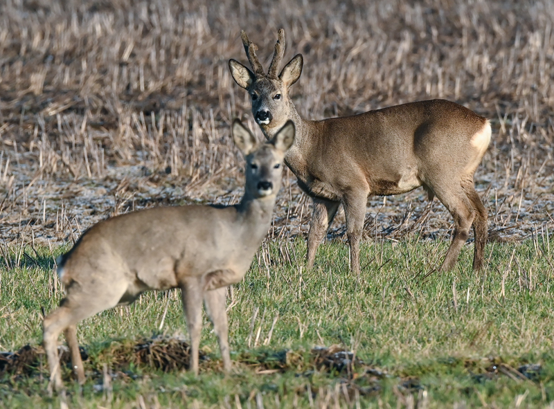
[[[246,183],[234,206],[170,206],[138,210],[95,224],[58,257],[57,274],[66,289],[60,307],[43,322],[43,343],[51,385],[63,390],[57,338],[64,332],[79,383],[84,368],[76,325],[144,291],[181,289],[190,336],[189,369],[198,374],[202,301],[220,344],[223,367],[231,370],[226,287],[242,280],[271,226],[285,152],[295,135],[285,122],[266,143],[258,143],[240,120],[232,125],[235,145],[246,159]]]

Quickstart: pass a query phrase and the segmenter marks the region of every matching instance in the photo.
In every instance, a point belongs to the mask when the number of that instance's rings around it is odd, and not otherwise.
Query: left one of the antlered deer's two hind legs
[[[463,190],[443,191],[435,190],[438,199],[446,206],[452,217],[454,217],[454,236],[448,248],[440,271],[449,271],[454,269],[458,261],[458,255],[462,246],[470,237],[470,228],[475,218],[475,210]]]

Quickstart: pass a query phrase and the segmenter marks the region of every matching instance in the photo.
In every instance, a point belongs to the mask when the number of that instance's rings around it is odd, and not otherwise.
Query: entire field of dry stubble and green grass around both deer
[[[246,62],[241,29],[266,68],[278,28],[285,60],[303,53],[305,118],[446,98],[493,136],[476,173],[484,273],[472,244],[434,271],[452,217],[422,190],[370,198],[359,276],[343,212],[307,273],[311,205],[286,170],[268,242],[229,293],[233,374],[207,322],[199,378],[141,363],[153,334],[160,356],[186,357],[178,293],[149,293],[80,325],[82,391],[48,397],[39,359],[0,369],[0,408],[554,407],[553,26],[551,0],[1,2],[0,352],[41,356],[42,315],[63,293],[53,257],[93,223],[242,195],[229,125],[260,132],[227,68]]]

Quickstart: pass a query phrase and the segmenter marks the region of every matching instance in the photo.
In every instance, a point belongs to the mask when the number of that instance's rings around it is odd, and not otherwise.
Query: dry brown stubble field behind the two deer
[[[292,92],[307,118],[430,98],[490,118],[478,190],[490,227],[524,237],[552,221],[554,5],[470,3],[5,1],[0,237],[55,244],[136,208],[233,203],[242,159],[229,124],[256,126],[227,61],[246,60],[243,28],[267,64],[281,27],[285,59],[305,57]],[[310,216],[287,176],[271,230],[285,237]],[[452,223],[436,202],[425,212],[420,190],[382,204],[369,203],[368,235],[434,237]]]

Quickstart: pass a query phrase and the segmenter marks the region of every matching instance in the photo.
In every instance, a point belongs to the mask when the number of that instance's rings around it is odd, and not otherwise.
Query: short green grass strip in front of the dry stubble
[[[233,374],[218,370],[217,341],[206,320],[201,346],[211,360],[201,363],[198,377],[132,367],[126,372],[136,380],[114,370],[121,375],[112,379],[111,396],[96,392],[102,364],[110,365],[109,348],[159,332],[166,305],[161,331],[186,334],[179,293],[145,293],[130,307],[80,324],[80,343],[91,355],[85,363],[88,379],[80,392],[67,370],[68,404],[235,408],[238,399],[242,408],[256,408],[261,399],[265,408],[309,407],[309,388],[314,407],[548,407],[554,401],[554,260],[548,240],[489,244],[481,273],[471,270],[472,245],[465,246],[454,271],[433,271],[446,249],[446,242],[416,237],[367,242],[361,246],[362,272],[355,276],[348,272],[348,246],[342,242],[321,246],[311,272],[303,267],[303,241],[264,244],[229,300]],[[19,257],[17,249],[4,249],[0,349],[41,342],[42,308],[51,311],[62,297],[53,280],[53,257],[62,250],[52,255],[48,248],[26,248],[28,257]],[[271,340],[263,345],[274,318]],[[355,367],[353,377],[314,366],[312,347],[332,344],[352,350],[366,365]],[[285,349],[293,359],[283,372],[257,374],[259,365],[248,365]],[[526,363],[542,369],[531,379],[502,372]],[[364,374],[368,367],[386,376]],[[0,381],[0,408],[60,405],[59,398],[48,397],[45,371]],[[361,388],[359,401],[356,388]],[[348,398],[343,390],[350,390]]]

